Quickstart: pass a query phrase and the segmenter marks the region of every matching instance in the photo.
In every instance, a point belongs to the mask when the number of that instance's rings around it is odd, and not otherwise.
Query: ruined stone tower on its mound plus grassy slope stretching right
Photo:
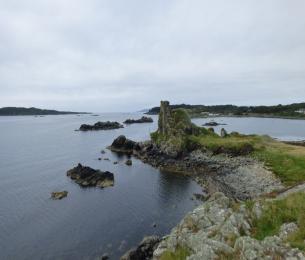
[[[161,103],[159,128],[151,134],[151,139],[173,157],[195,149],[213,154],[246,155],[264,162],[285,185],[305,181],[304,146],[286,144],[269,136],[236,132],[223,136],[194,125],[184,109],[171,110],[165,102]]]

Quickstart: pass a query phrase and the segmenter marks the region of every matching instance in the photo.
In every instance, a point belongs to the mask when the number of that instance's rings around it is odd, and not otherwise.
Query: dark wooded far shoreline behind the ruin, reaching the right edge
[[[186,109],[192,117],[204,117],[209,115],[218,116],[258,116],[258,117],[283,117],[283,118],[304,118],[305,103],[294,103],[290,105],[276,106],[235,106],[235,105],[171,105],[171,108]],[[160,107],[149,109],[147,114],[158,114]]]

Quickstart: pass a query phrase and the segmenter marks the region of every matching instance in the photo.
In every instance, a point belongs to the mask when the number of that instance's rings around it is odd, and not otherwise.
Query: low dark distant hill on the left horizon
[[[88,114],[85,112],[57,111],[49,109],[39,109],[35,107],[3,107],[0,108],[0,116],[36,116],[36,115],[69,115]]]

